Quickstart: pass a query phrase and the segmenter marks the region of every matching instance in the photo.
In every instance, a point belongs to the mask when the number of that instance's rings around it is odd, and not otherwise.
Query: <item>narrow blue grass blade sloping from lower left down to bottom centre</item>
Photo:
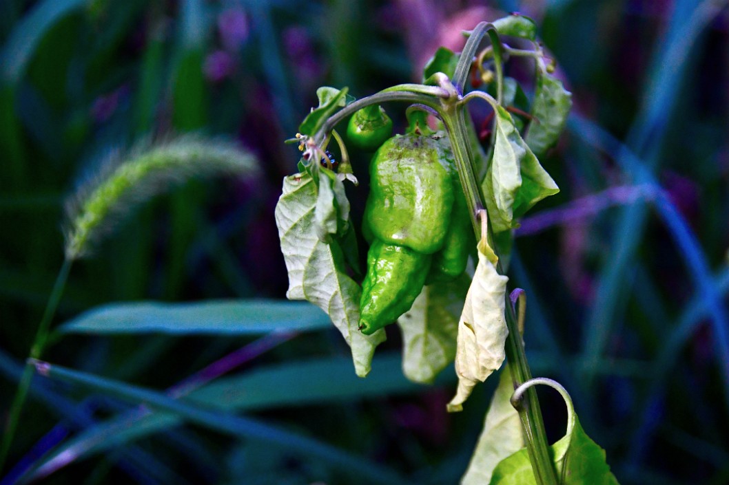
[[[144,387],[104,379],[100,376],[55,366],[40,360],[31,360],[31,363],[39,374],[49,376],[52,379],[61,379],[89,390],[117,396],[126,401],[146,403],[148,406],[178,414],[190,422],[195,422],[221,433],[254,438],[276,446],[284,446],[286,449],[303,455],[319,457],[344,470],[356,472],[360,476],[370,478],[375,483],[405,483],[397,473],[381,465],[367,462],[362,457],[343,452],[327,443],[290,433],[280,427],[268,425],[257,419],[200,408]]]

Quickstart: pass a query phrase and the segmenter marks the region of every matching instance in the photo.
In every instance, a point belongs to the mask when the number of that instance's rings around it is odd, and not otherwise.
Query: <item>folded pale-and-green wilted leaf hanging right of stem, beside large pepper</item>
[[[502,232],[517,227],[516,218],[539,200],[559,192],[559,188],[539,165],[502,106],[496,107],[495,136],[494,157],[482,189],[494,232]]]

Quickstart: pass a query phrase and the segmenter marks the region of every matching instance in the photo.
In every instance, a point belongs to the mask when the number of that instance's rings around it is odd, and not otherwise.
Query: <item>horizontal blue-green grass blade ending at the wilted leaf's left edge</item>
[[[300,301],[230,300],[104,305],[63,323],[63,334],[265,334],[329,326],[321,309]]]

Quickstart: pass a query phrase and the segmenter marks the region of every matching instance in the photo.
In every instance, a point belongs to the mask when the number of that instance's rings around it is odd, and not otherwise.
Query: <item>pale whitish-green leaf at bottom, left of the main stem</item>
[[[483,485],[491,481],[494,468],[504,458],[524,447],[521,419],[511,404],[514,385],[509,365],[502,368],[491,406],[488,406],[483,430],[461,485]]]

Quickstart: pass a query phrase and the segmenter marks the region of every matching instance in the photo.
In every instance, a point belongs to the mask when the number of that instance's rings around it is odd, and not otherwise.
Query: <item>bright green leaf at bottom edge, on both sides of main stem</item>
[[[574,414],[572,432],[550,446],[563,485],[618,485],[605,461],[605,450],[585,434]],[[526,448],[505,458],[494,469],[491,485],[537,484]]]

